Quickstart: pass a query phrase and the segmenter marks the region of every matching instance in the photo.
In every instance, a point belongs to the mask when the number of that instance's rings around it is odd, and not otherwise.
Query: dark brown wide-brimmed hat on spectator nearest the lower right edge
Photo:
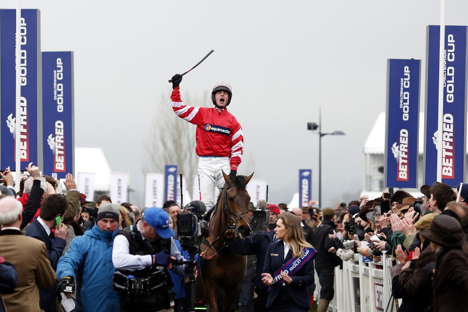
[[[437,215],[432,220],[430,227],[419,230],[419,234],[444,247],[460,247],[466,240],[460,222],[449,215]]]

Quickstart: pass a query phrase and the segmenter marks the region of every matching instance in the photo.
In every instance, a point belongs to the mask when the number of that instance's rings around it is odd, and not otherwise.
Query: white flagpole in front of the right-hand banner
[[[442,182],[442,118],[444,115],[445,0],[440,0],[439,118],[437,126],[437,181]]]

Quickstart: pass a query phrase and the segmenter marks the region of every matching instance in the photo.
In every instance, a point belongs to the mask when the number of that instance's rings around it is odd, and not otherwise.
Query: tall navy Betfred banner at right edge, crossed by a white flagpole
[[[428,26],[424,183],[437,180],[437,142],[442,140],[442,181],[465,182],[467,142],[467,26],[445,27],[444,114],[438,133],[440,26]]]

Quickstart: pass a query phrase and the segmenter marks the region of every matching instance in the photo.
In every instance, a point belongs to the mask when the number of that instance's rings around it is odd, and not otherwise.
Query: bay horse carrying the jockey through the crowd
[[[234,181],[224,172],[223,176],[226,185],[208,223],[210,235],[200,246],[200,257],[205,259],[201,266],[201,276],[205,298],[212,312],[229,312],[246,270],[246,256],[233,254],[229,248],[225,248],[228,245],[224,233],[227,229],[234,229],[244,237],[250,235],[247,217],[250,196],[245,187],[254,174],[236,176]],[[216,302],[218,288],[225,292],[222,310],[218,310]]]

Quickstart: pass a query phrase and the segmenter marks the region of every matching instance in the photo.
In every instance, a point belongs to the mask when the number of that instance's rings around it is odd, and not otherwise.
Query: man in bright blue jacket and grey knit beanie
[[[119,297],[113,289],[112,249],[118,232],[120,212],[116,204],[99,206],[96,225],[77,236],[57,266],[58,291],[75,286],[77,305],[75,312],[118,312]],[[67,293],[71,296],[71,293]]]

